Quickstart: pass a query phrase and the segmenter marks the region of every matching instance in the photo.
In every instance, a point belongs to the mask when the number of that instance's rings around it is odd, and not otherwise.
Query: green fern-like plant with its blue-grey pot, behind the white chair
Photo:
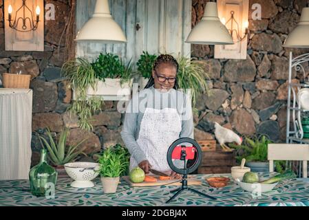
[[[266,135],[259,137],[245,137],[241,145],[231,144],[231,147],[237,149],[237,162],[240,164],[242,158],[246,159],[246,166],[253,172],[269,172],[268,162],[268,144],[273,141],[269,140]],[[275,161],[275,170],[279,173],[284,172],[284,162]]]

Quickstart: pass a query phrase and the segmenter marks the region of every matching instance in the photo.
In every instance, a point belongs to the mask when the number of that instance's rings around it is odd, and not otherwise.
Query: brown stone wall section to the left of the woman
[[[68,0],[45,0],[45,3],[55,5],[56,19],[45,21],[44,52],[9,52],[5,51],[4,47],[4,5],[3,0],[0,0],[0,76],[4,72],[15,72],[20,67],[32,76],[30,85],[33,89],[32,164],[36,164],[39,160],[41,149],[35,132],[42,133],[46,127],[49,127],[55,136],[63,126],[70,128],[69,144],[87,138],[82,147],[85,148],[85,153],[89,154],[100,151],[103,145],[123,144],[120,138],[122,115],[116,111],[116,102],[105,102],[103,112],[94,118],[93,132],[79,129],[76,118],[70,118],[70,115],[65,113],[71,106],[72,91],[67,81],[61,77],[65,45],[64,39],[61,41],[60,39],[70,12],[68,2]]]

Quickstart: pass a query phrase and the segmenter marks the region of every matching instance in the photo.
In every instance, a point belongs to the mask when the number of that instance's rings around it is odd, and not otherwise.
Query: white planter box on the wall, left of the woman
[[[105,78],[98,80],[95,89],[88,87],[87,96],[103,96],[105,101],[130,100],[133,78],[129,82],[120,84],[120,78]],[[76,100],[76,92],[74,91],[73,100]]]

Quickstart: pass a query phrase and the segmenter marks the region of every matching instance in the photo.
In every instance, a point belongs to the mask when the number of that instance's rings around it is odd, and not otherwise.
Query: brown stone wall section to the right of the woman
[[[192,26],[202,18],[206,2],[193,0]],[[213,46],[192,47],[192,56],[206,64],[213,94],[200,97],[198,102],[199,115],[195,116],[195,126],[201,130],[199,135],[211,135],[213,123],[218,122],[241,135],[266,133],[274,141],[285,140],[291,50],[284,48],[283,43],[297,25],[307,1],[251,0],[249,8],[253,3],[262,5],[262,20],[249,21],[251,35],[246,60],[218,60],[213,58]],[[309,50],[292,52],[297,56]],[[303,75],[295,71],[293,78],[299,82]]]

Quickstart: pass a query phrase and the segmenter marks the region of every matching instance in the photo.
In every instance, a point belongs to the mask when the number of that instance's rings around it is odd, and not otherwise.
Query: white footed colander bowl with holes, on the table
[[[73,162],[65,164],[65,171],[75,181],[72,181],[71,186],[75,188],[93,187],[92,179],[98,176],[99,165],[91,162]]]

